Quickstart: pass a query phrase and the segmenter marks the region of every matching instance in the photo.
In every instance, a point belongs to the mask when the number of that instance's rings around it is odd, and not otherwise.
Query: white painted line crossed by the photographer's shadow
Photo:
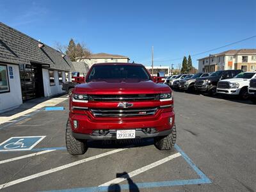
[[[118,184],[124,180],[127,180],[128,178],[134,177],[140,173],[146,172],[147,170],[150,170],[156,166],[159,166],[160,164],[166,163],[167,161],[170,161],[172,159],[175,159],[176,157],[181,156],[180,153],[173,154],[172,156],[165,157],[164,159],[161,159],[159,161],[156,161],[154,163],[148,164],[147,166],[143,166],[139,168],[138,170],[134,170],[133,172],[127,173],[126,175],[123,175],[122,177],[118,177],[116,179],[110,180],[108,182],[105,182],[104,184],[101,184],[99,187],[102,186],[110,186],[111,184]]]

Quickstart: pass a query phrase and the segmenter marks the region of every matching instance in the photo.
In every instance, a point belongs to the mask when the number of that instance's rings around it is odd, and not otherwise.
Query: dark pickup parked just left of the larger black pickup
[[[193,92],[195,90],[195,81],[199,77],[208,77],[207,73],[197,73],[189,78],[184,78],[179,82],[179,90],[184,90],[186,92]]]

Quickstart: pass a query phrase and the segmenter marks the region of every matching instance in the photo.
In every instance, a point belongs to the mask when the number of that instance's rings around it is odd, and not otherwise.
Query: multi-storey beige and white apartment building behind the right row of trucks
[[[244,72],[255,71],[256,49],[228,50],[198,60],[199,72],[228,69],[241,69]]]

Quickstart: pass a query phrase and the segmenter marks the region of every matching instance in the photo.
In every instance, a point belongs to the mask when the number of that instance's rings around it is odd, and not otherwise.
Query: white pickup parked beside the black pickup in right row
[[[232,79],[221,80],[217,84],[217,93],[239,95],[241,99],[248,99],[248,86],[255,77],[256,72],[241,72]]]

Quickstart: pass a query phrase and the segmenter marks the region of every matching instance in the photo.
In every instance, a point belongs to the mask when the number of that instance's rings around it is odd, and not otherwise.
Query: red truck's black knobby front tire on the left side
[[[78,141],[72,136],[72,129],[70,125],[70,121],[67,122],[66,129],[66,146],[68,153],[72,156],[82,155],[86,152],[86,142]]]

